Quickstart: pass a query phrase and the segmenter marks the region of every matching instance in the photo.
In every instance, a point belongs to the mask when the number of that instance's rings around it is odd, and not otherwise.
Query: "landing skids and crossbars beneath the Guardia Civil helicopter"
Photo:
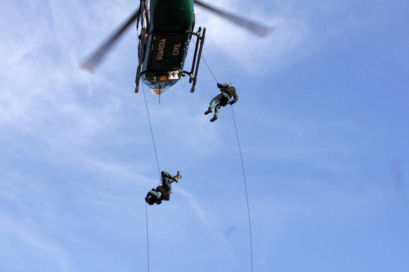
[[[180,33],[161,33],[164,35],[180,35]],[[178,74],[180,74],[182,77],[186,75],[189,75],[189,83],[192,83],[192,88],[190,89],[190,92],[193,93],[195,91],[195,87],[196,87],[196,81],[197,81],[197,77],[198,77],[198,69],[199,69],[199,64],[200,64],[200,58],[202,57],[202,49],[203,49],[203,43],[205,42],[205,34],[206,34],[206,28],[202,28],[199,27],[197,32],[189,32],[189,33],[184,33],[184,35],[186,34],[190,34],[192,39],[192,36],[196,36],[197,40],[195,43],[195,52],[193,54],[193,61],[192,61],[192,69],[191,71],[185,71],[185,70],[180,70],[177,71]],[[153,72],[153,71],[141,71],[142,69],[142,64],[144,62],[145,59],[145,55],[146,55],[146,45],[147,45],[147,41],[148,41],[148,36],[152,35],[152,33],[146,33],[146,28],[143,28],[141,31],[141,35],[140,35],[140,48],[139,48],[139,64],[138,64],[138,68],[137,68],[137,73],[136,73],[136,79],[135,79],[135,83],[136,83],[136,87],[135,87],[135,93],[137,93],[139,91],[139,81],[141,80],[141,76],[145,73],[149,73],[149,72]],[[195,68],[196,66],[196,68]],[[161,72],[161,71],[154,71],[155,73],[157,72]],[[163,73],[169,73],[169,71],[163,71]],[[171,85],[173,86],[173,85]]]

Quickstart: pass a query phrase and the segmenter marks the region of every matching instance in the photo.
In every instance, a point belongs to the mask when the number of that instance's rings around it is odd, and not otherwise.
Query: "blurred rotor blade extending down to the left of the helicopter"
[[[101,62],[103,56],[112,47],[113,44],[118,40],[118,38],[124,33],[124,31],[135,22],[139,17],[140,10],[135,11],[121,26],[115,31],[110,38],[106,40],[99,48],[90,56],[88,59],[81,64],[81,68],[92,72],[94,68]]]

